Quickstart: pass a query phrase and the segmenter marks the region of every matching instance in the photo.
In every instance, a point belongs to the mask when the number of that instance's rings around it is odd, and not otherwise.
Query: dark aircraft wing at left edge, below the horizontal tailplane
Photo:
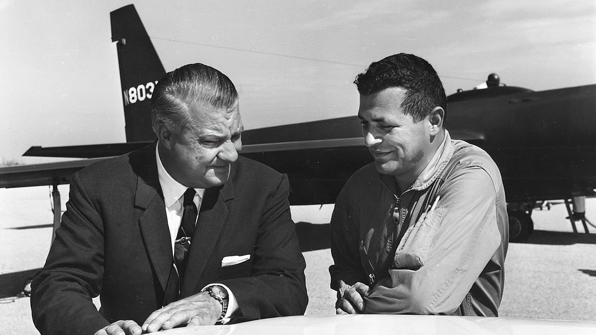
[[[106,158],[0,168],[0,188],[69,184],[73,173]]]

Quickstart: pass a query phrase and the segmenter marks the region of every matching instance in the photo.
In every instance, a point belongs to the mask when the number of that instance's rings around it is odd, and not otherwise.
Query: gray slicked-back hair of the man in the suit
[[[228,76],[201,63],[166,73],[151,98],[151,126],[155,134],[159,137],[160,122],[173,134],[179,134],[191,121],[189,112],[194,103],[232,111],[238,108],[238,92]]]

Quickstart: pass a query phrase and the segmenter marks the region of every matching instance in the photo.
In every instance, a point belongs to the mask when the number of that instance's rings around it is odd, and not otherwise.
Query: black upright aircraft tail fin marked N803
[[[162,61],[136,13],[135,5],[110,12],[112,42],[117,42],[126,142],[152,141],[151,96],[166,74]]]

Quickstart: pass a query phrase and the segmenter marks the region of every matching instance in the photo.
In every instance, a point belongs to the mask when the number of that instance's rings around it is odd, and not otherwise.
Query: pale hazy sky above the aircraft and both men
[[[110,11],[130,3],[0,0],[0,159],[125,141]],[[355,115],[354,77],[398,52],[426,58],[447,94],[491,72],[537,91],[596,83],[594,0],[134,4],[166,71],[232,79],[248,129]]]

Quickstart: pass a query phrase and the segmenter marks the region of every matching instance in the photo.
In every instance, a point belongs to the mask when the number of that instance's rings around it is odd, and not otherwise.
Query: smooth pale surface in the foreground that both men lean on
[[[398,331],[399,330],[399,331]],[[163,335],[194,334],[593,334],[596,322],[453,315],[325,315],[280,317],[233,325],[173,328]]]

